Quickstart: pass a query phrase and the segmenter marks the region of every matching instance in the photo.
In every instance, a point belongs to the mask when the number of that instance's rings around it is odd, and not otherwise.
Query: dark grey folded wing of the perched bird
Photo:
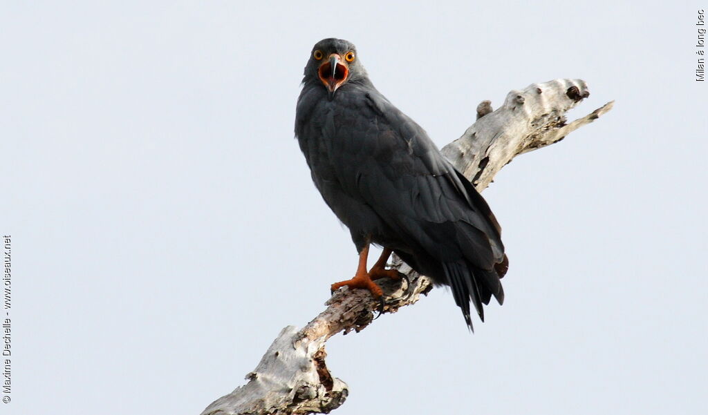
[[[329,145],[346,192],[439,259],[466,257],[483,269],[503,258],[498,223],[413,120],[385,98],[341,105]]]

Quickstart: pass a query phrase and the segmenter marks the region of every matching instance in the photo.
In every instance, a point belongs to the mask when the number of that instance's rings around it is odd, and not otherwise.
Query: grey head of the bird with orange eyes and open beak
[[[324,39],[314,45],[305,66],[303,82],[321,84],[332,98],[345,83],[366,78],[356,47],[342,39]]]

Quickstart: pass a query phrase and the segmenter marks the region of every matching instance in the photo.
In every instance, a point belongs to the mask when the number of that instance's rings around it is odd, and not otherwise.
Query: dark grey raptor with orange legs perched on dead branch
[[[492,296],[503,304],[508,257],[498,221],[426,131],[379,93],[353,43],[327,38],[312,48],[295,138],[315,187],[359,255],[354,277],[332,284],[332,291],[365,288],[382,301],[374,281],[401,278],[386,269],[394,252],[435,286],[450,287],[471,331],[470,304],[482,322],[482,304]],[[372,244],[383,250],[367,270]]]

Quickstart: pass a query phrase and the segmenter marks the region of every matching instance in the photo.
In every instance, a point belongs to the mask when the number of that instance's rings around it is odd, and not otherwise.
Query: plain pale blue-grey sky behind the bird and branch
[[[329,341],[336,414],[706,413],[708,3],[62,3],[0,6],[0,414],[199,414],[323,310],[357,259],[292,133],[324,37],[438,146],[530,83],[617,101],[484,192],[511,264],[475,334],[435,289]]]

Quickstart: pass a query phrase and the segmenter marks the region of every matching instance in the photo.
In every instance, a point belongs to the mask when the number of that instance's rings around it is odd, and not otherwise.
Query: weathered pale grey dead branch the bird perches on
[[[554,144],[612,108],[613,102],[607,103],[566,124],[566,111],[588,95],[585,81],[556,79],[512,90],[494,111],[489,101],[483,101],[477,107],[476,122],[442,148],[442,154],[481,191],[515,156]],[[393,262],[409,282],[381,284],[386,296],[384,312],[416,303],[433,288],[428,278],[399,258]],[[359,332],[370,325],[378,303],[368,291],[345,287],[326,305],[304,328],[282,329],[261,363],[246,375],[249,382],[212,402],[202,415],[329,413],[343,404],[348,387],[329,373],[325,342],[339,332]]]

